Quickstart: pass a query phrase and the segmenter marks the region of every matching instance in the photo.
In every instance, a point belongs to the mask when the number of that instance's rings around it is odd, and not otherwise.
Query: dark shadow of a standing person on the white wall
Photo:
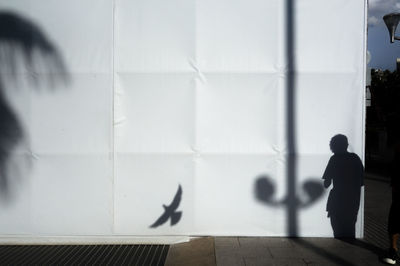
[[[335,238],[355,238],[355,224],[360,207],[361,187],[364,185],[364,167],[355,153],[347,151],[345,135],[335,135],[330,142],[333,156],[324,175],[324,187],[333,183],[326,204]]]

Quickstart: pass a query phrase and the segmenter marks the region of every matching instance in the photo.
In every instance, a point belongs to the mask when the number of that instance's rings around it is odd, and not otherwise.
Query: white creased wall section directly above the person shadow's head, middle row
[[[350,149],[362,157],[364,140],[362,75],[299,74],[297,82],[297,139],[300,154],[330,154],[329,141],[347,136]],[[318,110],[318,111],[316,111]]]

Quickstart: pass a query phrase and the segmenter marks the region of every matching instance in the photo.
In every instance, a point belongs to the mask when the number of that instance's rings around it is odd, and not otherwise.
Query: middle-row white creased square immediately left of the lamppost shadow
[[[206,74],[196,90],[196,149],[201,153],[273,154],[284,134],[278,75]]]

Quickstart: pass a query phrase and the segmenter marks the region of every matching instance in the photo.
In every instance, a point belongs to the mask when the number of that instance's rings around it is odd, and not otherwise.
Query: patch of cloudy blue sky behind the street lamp
[[[382,17],[388,13],[400,12],[400,0],[368,2],[368,50],[371,54],[369,67],[394,70],[396,58],[400,58],[400,41],[390,43],[389,32]],[[400,36],[400,25],[396,33]]]

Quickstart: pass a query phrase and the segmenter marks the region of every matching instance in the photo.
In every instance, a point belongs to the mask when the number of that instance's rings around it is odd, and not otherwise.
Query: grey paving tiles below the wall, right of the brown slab
[[[380,265],[379,248],[329,238],[216,238],[217,265]]]

